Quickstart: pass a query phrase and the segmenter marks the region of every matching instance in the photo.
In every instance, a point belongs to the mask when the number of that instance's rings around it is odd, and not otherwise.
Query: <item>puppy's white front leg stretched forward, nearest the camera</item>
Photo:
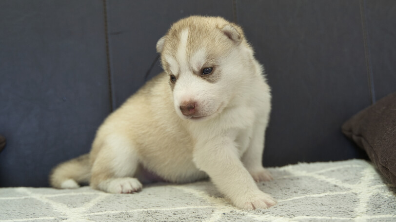
[[[257,188],[255,181],[238,158],[238,151],[229,137],[197,144],[194,162],[205,171],[221,193],[242,209],[268,208],[276,201]]]

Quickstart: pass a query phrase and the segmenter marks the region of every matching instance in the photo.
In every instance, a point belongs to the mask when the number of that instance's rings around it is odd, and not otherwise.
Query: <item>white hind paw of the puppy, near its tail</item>
[[[132,177],[110,179],[107,192],[109,193],[134,193],[141,190],[143,185],[138,179]]]

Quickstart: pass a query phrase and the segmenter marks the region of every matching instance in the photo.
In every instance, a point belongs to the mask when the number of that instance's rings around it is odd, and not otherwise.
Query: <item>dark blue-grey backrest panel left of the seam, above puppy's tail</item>
[[[0,186],[47,186],[110,111],[103,4],[0,1]]]

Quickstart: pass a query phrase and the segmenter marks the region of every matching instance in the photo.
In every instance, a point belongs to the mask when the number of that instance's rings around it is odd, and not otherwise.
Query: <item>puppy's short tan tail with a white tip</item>
[[[79,188],[79,184],[88,184],[90,178],[89,154],[84,154],[56,166],[49,183],[54,188]]]

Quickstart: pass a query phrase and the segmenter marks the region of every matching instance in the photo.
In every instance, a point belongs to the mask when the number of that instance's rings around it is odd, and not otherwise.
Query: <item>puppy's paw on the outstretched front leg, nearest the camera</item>
[[[270,195],[259,191],[254,193],[253,195],[250,195],[247,198],[242,198],[241,200],[238,200],[238,202],[234,204],[241,209],[255,210],[266,209],[268,207],[276,205],[277,201]]]

